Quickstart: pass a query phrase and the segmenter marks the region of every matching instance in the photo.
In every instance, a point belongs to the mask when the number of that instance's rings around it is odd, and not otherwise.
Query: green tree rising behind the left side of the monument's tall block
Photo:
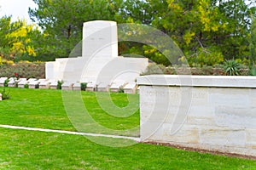
[[[82,40],[83,23],[89,20],[115,20],[119,2],[110,0],[33,0],[33,21],[44,30],[44,53],[67,57]]]

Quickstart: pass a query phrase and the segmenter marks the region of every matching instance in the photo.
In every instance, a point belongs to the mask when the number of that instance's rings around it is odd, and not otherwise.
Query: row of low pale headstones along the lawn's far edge
[[[20,78],[15,77],[0,77],[0,87],[17,87],[17,88],[50,88],[57,89],[58,85],[62,90],[81,90],[82,84],[85,84],[86,91],[99,91],[99,92],[124,92],[125,94],[136,94],[139,88],[137,88],[136,82],[113,82],[111,85],[106,83],[96,84],[95,82],[61,82],[56,80],[36,79],[36,78]]]

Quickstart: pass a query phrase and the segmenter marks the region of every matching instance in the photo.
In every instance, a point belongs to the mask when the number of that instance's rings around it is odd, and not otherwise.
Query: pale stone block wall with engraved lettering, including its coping
[[[138,77],[141,140],[256,156],[256,77]]]

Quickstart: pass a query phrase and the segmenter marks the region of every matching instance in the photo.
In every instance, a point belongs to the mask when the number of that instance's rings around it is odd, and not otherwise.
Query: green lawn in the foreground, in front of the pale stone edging
[[[252,160],[160,145],[113,148],[79,135],[4,128],[0,132],[0,169],[256,169]]]

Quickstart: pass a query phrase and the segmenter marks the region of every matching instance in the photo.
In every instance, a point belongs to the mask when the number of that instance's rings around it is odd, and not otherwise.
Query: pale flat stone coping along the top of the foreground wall
[[[137,84],[144,86],[256,88],[256,77],[148,75],[137,77]]]

